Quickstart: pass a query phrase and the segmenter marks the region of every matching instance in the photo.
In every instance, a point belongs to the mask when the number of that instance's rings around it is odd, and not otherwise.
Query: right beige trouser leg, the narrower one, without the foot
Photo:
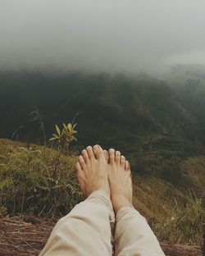
[[[116,214],[114,241],[117,256],[165,256],[146,219],[131,207]]]

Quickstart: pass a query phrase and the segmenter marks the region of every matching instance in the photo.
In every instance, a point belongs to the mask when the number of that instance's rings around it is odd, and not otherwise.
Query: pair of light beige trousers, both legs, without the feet
[[[138,211],[131,207],[121,208],[115,222],[111,200],[98,190],[57,222],[40,256],[110,256],[114,223],[116,255],[165,255]]]

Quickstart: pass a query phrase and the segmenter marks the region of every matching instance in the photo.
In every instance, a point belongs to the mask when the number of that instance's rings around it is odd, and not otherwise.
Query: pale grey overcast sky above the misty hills
[[[0,0],[0,67],[205,64],[204,0]]]

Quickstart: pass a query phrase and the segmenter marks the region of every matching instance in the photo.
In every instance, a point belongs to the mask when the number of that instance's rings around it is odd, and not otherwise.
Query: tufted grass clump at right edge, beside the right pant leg
[[[153,225],[160,240],[171,244],[202,245],[205,209],[201,199],[191,197],[185,208],[176,202],[169,216]]]

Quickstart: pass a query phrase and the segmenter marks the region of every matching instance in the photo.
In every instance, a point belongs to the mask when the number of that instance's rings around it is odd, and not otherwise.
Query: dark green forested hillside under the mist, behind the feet
[[[187,187],[192,181],[181,170],[201,162],[205,153],[205,83],[199,71],[180,66],[167,81],[143,75],[1,71],[0,136],[43,144],[55,124],[75,119],[75,145],[120,149],[137,173]]]

